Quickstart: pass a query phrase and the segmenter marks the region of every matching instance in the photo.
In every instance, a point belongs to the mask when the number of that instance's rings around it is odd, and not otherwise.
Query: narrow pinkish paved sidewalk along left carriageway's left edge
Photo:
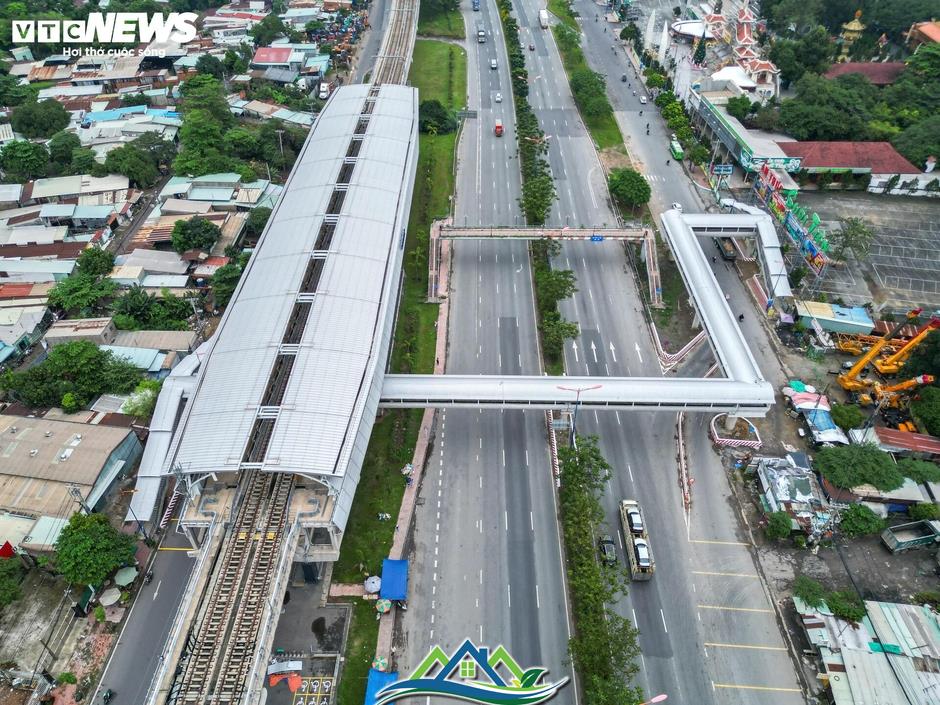
[[[440,227],[440,222],[432,224],[432,230]],[[432,234],[432,237],[434,235]],[[437,349],[435,351],[434,374],[444,374],[444,366],[447,362],[447,325],[450,312],[450,302],[447,296],[450,286],[450,258],[451,242],[443,240],[440,244],[441,260],[438,267],[437,291],[434,292],[440,300],[440,308],[437,315]],[[421,478],[424,475],[424,464],[427,460],[431,444],[431,434],[434,428],[436,416],[435,409],[425,409],[424,416],[421,419],[421,429],[418,431],[418,442],[415,444],[415,454],[411,461],[414,471],[412,472],[412,482],[405,488],[405,494],[401,500],[401,507],[398,510],[398,520],[395,523],[395,540],[392,543],[392,549],[389,551],[389,558],[400,559],[403,557],[405,542],[411,530],[411,521],[414,517],[415,504],[418,498],[418,491],[421,487]],[[332,594],[332,590],[331,590]],[[379,622],[379,638],[375,648],[375,655],[388,659],[390,667],[393,667],[392,661],[392,636],[395,628],[395,612],[383,615]]]

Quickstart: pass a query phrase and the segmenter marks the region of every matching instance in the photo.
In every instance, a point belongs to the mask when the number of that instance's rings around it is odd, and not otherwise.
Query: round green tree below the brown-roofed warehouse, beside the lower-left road
[[[56,541],[55,566],[76,585],[101,585],[111,571],[134,558],[137,542],[104,514],[76,512]]]

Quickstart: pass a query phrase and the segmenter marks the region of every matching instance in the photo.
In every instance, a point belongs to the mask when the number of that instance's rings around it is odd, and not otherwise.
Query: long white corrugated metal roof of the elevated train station
[[[187,472],[241,465],[368,90],[338,91],[297,160],[219,326],[183,421],[175,462]],[[279,408],[266,469],[347,470],[380,362],[377,331],[397,291],[396,217],[416,148],[415,100],[411,88],[384,86],[376,101]]]

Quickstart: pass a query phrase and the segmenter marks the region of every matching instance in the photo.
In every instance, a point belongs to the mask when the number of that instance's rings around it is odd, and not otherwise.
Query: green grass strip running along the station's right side
[[[452,75],[443,75],[448,73]],[[466,76],[466,54],[460,47],[427,40],[415,43],[410,80],[424,99],[437,99],[447,106],[462,105]],[[418,172],[405,241],[404,285],[392,348],[393,372],[429,374],[434,370],[438,307],[426,302],[428,236],[431,221],[446,216],[450,209],[455,142],[454,133],[419,136]],[[397,410],[386,412],[376,421],[339,560],[333,566],[335,582],[360,582],[366,573],[381,570],[382,559],[392,546],[395,525],[378,521],[377,515],[388,512],[395,516],[398,512],[405,490],[399,470],[414,455],[422,415],[421,409]],[[407,527],[399,530],[406,531]]]

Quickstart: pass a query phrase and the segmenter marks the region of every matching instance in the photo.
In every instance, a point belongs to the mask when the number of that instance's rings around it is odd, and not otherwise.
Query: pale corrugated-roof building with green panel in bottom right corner
[[[927,605],[865,601],[857,623],[793,598],[833,705],[940,702],[940,622]]]

